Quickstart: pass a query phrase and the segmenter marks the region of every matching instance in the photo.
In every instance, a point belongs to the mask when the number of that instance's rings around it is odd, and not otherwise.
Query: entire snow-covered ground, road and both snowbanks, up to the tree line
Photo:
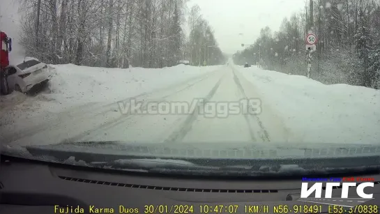
[[[1,98],[0,135],[6,143],[380,141],[380,91],[374,89],[328,86],[231,63],[162,69],[51,67],[50,91]],[[200,105],[198,98],[206,102]],[[247,114],[242,105],[247,100],[259,103],[259,112]],[[128,112],[132,101],[142,102],[148,113]],[[152,103],[169,112],[158,112]],[[178,113],[173,109],[178,104],[189,108]]]

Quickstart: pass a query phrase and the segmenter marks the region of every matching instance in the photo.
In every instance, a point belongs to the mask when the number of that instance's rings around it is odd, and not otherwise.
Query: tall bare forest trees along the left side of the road
[[[209,25],[202,19],[193,20],[190,35],[184,33],[187,0],[20,1],[26,12],[22,44],[28,55],[47,63],[162,68],[191,56],[208,60],[204,41],[217,45],[212,31],[205,36]],[[199,13],[195,7],[190,16]],[[209,53],[222,59],[217,47]]]

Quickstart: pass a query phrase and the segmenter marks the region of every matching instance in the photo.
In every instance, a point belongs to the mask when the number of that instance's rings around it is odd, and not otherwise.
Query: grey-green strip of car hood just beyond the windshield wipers
[[[26,146],[29,150],[66,150],[86,153],[148,155],[154,157],[207,157],[239,159],[344,158],[380,155],[374,144],[252,144],[244,142],[151,143],[75,142]]]

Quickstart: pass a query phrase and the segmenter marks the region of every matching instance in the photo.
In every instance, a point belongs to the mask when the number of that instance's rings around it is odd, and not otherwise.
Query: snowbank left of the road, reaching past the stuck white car
[[[142,93],[200,77],[220,66],[178,65],[168,68],[93,68],[49,65],[49,89],[36,96],[13,92],[0,97],[0,127],[29,130],[36,124],[59,119],[61,112],[89,109],[95,103],[108,105]],[[0,133],[1,135],[1,133]]]

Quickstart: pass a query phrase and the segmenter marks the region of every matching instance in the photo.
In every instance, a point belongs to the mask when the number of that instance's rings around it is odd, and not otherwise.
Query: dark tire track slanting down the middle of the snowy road
[[[222,82],[223,77],[225,77],[225,75],[222,75],[222,77],[220,77],[220,79],[215,84],[215,86],[213,86],[213,89],[211,89],[211,91],[208,93],[208,95],[206,95],[206,97],[204,98],[204,102],[202,103],[202,105],[200,105],[200,106],[198,105],[194,109],[194,111],[192,112],[192,114],[190,114],[185,119],[185,121],[178,128],[178,130],[175,130],[174,132],[172,132],[172,134],[169,135],[169,137],[167,137],[167,139],[164,140],[164,143],[180,142],[188,134],[188,132],[190,132],[190,130],[192,129],[193,123],[195,122],[195,120],[197,119],[197,117],[199,115],[200,108],[204,108],[205,105],[206,105],[206,103],[208,101],[210,101],[211,98],[213,98],[213,95],[218,90],[218,88],[220,86],[220,83]]]

